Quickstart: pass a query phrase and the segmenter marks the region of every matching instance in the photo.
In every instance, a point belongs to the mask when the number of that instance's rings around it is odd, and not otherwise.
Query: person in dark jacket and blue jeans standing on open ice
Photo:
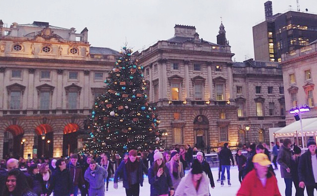
[[[232,161],[232,166],[234,166],[234,160],[231,150],[228,148],[228,143],[223,144],[223,148],[220,151],[220,161],[221,161],[221,187],[224,185],[224,171],[227,170],[228,186],[231,186],[230,182],[230,159]]]

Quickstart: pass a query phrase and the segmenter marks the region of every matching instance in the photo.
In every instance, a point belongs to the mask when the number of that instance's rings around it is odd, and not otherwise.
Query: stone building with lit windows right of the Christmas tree
[[[285,126],[279,65],[232,62],[222,23],[217,44],[200,38],[194,26],[174,29],[174,37],[136,53],[166,146],[268,143],[268,128]]]

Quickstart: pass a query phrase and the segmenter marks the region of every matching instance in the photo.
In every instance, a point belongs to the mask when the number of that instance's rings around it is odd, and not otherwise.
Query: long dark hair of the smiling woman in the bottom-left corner
[[[9,192],[7,186],[4,187],[2,196],[23,196],[25,193],[30,192],[31,189],[27,183],[24,173],[20,169],[12,169],[8,173],[9,176],[14,176],[16,178],[16,186],[13,192]],[[8,178],[7,177],[7,178]],[[6,178],[6,180],[7,180]]]

